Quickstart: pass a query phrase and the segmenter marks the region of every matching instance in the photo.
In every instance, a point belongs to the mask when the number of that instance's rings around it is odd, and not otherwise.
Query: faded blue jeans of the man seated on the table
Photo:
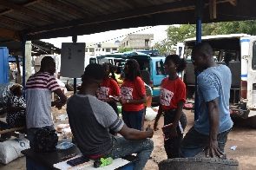
[[[154,149],[154,142],[150,139],[141,141],[127,141],[123,137],[113,136],[113,147],[108,156],[113,159],[120,158],[122,156],[137,154],[141,160],[134,163],[135,170],[142,170],[145,167],[150,154]]]

